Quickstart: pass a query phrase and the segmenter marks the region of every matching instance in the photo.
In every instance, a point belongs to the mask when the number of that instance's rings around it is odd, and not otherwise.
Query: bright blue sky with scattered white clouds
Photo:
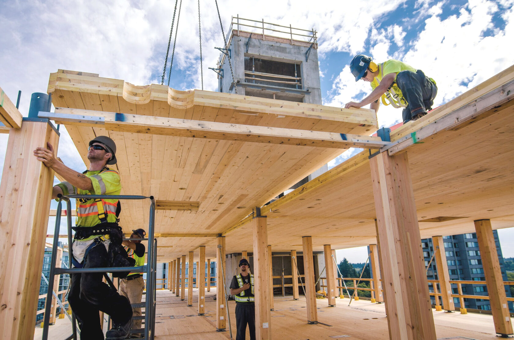
[[[422,69],[437,82],[435,107],[514,64],[513,3],[318,0],[313,6],[304,0],[219,0],[218,8],[225,33],[231,16],[237,15],[314,28],[324,105],[342,107],[370,92],[368,83],[355,82],[348,67],[354,55],[363,53],[376,62],[393,58]],[[0,11],[0,87],[13,102],[22,91],[20,111],[26,116],[31,93],[46,92],[49,73],[58,69],[98,73],[135,85],[160,84],[174,7],[175,2],[161,0],[4,0]],[[216,66],[219,51],[214,47],[223,46],[223,35],[215,2],[201,1],[199,8],[203,86],[215,91],[216,73],[208,68]],[[201,89],[198,2],[184,1],[176,17],[170,87]],[[392,126],[400,122],[401,110],[382,106],[377,116],[379,126]],[[0,134],[2,167],[6,145],[7,135]],[[329,167],[359,151],[349,150]],[[58,156],[68,166],[83,171],[84,163],[65,128],[61,128]],[[514,256],[514,229],[499,233],[504,256]],[[361,248],[338,251],[338,258],[342,256],[363,262],[367,254]]]

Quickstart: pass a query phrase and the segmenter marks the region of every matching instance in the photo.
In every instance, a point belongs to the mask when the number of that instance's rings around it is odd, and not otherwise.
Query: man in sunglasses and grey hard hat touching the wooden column
[[[47,143],[47,148],[36,148],[34,156],[66,180],[53,187],[52,198],[57,198],[58,194],[120,194],[120,176],[106,166],[116,163],[116,144],[111,138],[98,136],[89,142],[89,169],[82,174],[61,163],[54,155],[50,143]],[[117,199],[77,200],[75,238],[72,244],[75,268],[108,267],[108,250],[116,243],[121,247],[123,236],[117,223],[117,213]],[[113,328],[107,331],[106,339],[124,339],[132,326],[130,302],[102,282],[102,278],[103,273],[71,275],[68,301],[77,317],[82,340],[103,340],[103,323],[100,322],[99,311],[111,315],[113,320]]]

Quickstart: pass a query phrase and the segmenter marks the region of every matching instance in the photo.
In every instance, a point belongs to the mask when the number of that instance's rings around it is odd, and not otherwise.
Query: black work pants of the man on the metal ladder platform
[[[107,267],[107,250],[95,245],[86,256],[84,268]],[[132,317],[128,299],[102,282],[103,273],[71,275],[68,301],[77,318],[82,340],[104,339],[100,324],[102,311],[111,315],[114,324],[126,324]]]

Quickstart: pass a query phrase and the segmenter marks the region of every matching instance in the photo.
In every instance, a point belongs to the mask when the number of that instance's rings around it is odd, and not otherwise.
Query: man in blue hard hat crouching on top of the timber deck
[[[355,56],[350,70],[356,82],[359,79],[370,82],[373,91],[358,103],[346,103],[345,108],[371,104],[370,108],[377,112],[380,107],[378,100],[381,99],[384,105],[403,107],[404,124],[425,116],[432,109],[437,86],[421,70],[394,59],[377,65],[364,54]]]

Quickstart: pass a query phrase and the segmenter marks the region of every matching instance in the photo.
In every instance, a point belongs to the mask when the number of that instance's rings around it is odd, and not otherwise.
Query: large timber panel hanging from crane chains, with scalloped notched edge
[[[134,86],[96,74],[60,70],[48,91],[56,107],[118,112],[203,122],[291,128],[369,135],[376,115],[368,109],[341,109],[209,91],[176,91],[161,85]],[[158,200],[197,201],[198,211],[158,211],[156,233],[218,234],[292,184],[314,172],[342,149],[268,145],[219,139],[136,134],[105,126],[66,125],[85,158],[88,141],[107,135],[117,143],[123,194],[153,195]],[[148,207],[122,202],[121,225],[144,226]],[[207,245],[214,238],[163,237],[158,260]],[[215,255],[215,245],[207,254]]]

